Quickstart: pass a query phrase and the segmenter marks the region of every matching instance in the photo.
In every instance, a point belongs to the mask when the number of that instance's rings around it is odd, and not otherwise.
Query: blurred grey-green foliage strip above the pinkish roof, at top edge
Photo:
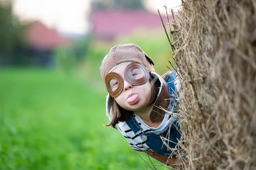
[[[144,9],[142,0],[93,0],[91,11],[102,9]]]

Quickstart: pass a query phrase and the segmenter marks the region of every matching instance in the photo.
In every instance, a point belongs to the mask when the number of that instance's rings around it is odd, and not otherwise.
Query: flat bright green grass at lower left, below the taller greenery
[[[92,87],[55,71],[0,70],[0,170],[149,170],[103,126],[106,93]]]

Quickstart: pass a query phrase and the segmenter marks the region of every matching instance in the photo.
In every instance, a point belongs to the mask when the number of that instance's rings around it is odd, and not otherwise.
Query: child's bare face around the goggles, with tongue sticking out
[[[128,64],[120,65],[112,72],[125,77],[125,68]],[[143,85],[131,85],[126,80],[122,93],[114,98],[116,102],[128,111],[140,111],[148,107],[151,100],[151,83],[148,81]]]

